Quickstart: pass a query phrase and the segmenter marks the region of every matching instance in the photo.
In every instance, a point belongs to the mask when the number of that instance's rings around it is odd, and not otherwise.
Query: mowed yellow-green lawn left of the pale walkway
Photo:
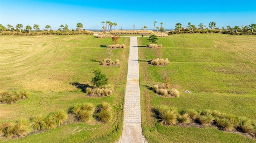
[[[120,37],[126,49],[113,50],[112,60],[120,65],[101,67],[98,63],[107,58],[106,46],[112,39],[96,39],[94,35],[38,35],[1,36],[0,89],[31,92],[30,98],[15,104],[0,104],[0,120],[30,118],[35,114],[49,114],[58,109],[68,112],[71,106],[90,102],[97,106],[103,101],[113,107],[114,119],[101,123],[93,119],[89,123],[77,123],[69,117],[67,123],[46,131],[10,139],[9,142],[108,142],[117,141],[122,132],[122,106],[126,87],[129,37]],[[100,68],[106,74],[115,92],[110,97],[89,97],[80,88],[92,86],[93,69]],[[49,93],[50,91],[53,93]],[[1,140],[6,141],[6,140]]]

